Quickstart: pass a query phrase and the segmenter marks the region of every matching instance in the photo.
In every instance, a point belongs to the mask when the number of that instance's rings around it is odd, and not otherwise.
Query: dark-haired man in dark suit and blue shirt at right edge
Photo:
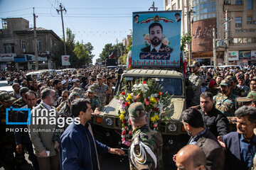
[[[223,136],[226,149],[225,169],[249,169],[256,151],[256,108],[242,106],[235,111],[237,132]],[[221,143],[221,142],[220,142]]]

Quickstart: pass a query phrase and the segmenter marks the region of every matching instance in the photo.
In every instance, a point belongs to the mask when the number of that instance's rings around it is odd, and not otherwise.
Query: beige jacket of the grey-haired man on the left
[[[53,115],[53,111],[55,111],[55,115]],[[36,156],[39,156],[45,149],[50,151],[50,157],[58,154],[54,149],[53,142],[53,135],[57,127],[57,115],[56,108],[52,106],[48,111],[43,102],[31,111],[31,124],[28,125],[28,129]]]

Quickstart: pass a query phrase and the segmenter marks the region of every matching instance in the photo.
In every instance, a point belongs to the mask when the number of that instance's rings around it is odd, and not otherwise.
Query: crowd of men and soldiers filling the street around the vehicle
[[[124,154],[122,149],[95,140],[90,126],[91,115],[99,114],[114,96],[117,69],[97,66],[58,75],[46,72],[39,77],[28,77],[26,74],[0,72],[0,80],[7,80],[14,90],[11,94],[0,93],[0,166],[22,169],[27,152],[34,169],[99,169],[98,153]],[[174,155],[178,169],[255,169],[256,69],[203,69],[195,63],[186,75],[188,109],[181,118],[191,139]],[[30,108],[31,117],[28,118],[26,111],[9,111],[9,122],[32,121],[43,114],[43,109],[57,113],[55,118],[79,118],[80,122],[65,121],[61,126],[6,125],[6,108],[10,107]],[[50,116],[44,117],[50,119]],[[146,126],[142,103],[130,106],[129,123],[133,128],[130,168],[163,169],[163,140],[159,132]],[[142,147],[146,148],[142,156],[146,160],[139,157]]]

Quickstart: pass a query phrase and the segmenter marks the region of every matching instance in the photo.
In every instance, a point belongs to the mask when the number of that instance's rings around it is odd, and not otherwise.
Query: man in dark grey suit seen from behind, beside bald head
[[[198,145],[206,154],[206,169],[223,169],[225,154],[219,145],[217,138],[207,130],[201,113],[193,109],[187,109],[181,114],[184,128],[191,136],[189,145]]]

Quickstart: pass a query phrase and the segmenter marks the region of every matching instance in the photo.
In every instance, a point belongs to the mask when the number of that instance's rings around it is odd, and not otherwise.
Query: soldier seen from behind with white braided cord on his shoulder
[[[130,169],[164,169],[161,133],[151,130],[146,123],[144,104],[129,106],[129,123],[132,125],[132,145],[129,147]]]

